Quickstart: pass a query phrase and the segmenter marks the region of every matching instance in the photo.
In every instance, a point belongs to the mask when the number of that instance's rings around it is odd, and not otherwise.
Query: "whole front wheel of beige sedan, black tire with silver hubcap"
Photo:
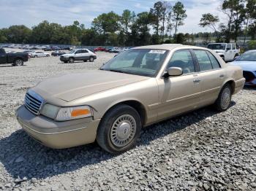
[[[96,140],[105,151],[118,154],[135,147],[140,129],[138,112],[131,106],[120,104],[110,109],[102,118]]]

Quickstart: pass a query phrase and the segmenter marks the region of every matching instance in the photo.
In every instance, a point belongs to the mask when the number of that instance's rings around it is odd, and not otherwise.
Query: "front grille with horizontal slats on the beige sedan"
[[[37,93],[34,93],[31,90],[26,93],[24,104],[26,109],[29,109],[33,114],[39,114],[42,102],[43,99]]]

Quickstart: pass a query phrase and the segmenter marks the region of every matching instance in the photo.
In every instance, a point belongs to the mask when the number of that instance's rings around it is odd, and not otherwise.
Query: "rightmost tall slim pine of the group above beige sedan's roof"
[[[183,21],[187,18],[186,9],[184,9],[184,4],[180,1],[176,2],[173,6],[173,22],[175,28],[175,38],[178,31],[178,26],[183,26]]]

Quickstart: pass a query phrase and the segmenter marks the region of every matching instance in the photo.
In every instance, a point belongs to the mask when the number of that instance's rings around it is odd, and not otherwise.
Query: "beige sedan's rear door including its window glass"
[[[211,52],[207,50],[193,50],[193,54],[200,69],[198,73],[202,88],[200,105],[214,103],[219,95],[225,72]]]

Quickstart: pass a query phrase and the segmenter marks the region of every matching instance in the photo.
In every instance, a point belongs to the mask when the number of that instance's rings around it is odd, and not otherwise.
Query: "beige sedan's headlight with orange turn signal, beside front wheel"
[[[92,111],[89,106],[61,107],[56,116],[57,121],[75,120],[84,117],[91,117]]]

